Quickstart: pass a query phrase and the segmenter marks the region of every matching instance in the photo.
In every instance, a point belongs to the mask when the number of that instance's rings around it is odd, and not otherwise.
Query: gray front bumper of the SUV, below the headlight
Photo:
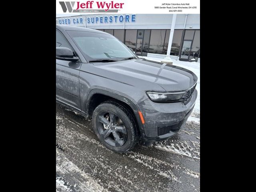
[[[165,140],[180,130],[192,113],[197,97],[194,90],[190,101],[184,105],[176,103],[156,103],[149,98],[139,103],[144,121],[141,131],[143,140]]]

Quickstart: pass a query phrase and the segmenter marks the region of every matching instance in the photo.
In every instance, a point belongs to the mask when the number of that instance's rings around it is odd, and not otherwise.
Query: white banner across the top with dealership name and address
[[[56,0],[56,14],[200,14],[200,0]]]

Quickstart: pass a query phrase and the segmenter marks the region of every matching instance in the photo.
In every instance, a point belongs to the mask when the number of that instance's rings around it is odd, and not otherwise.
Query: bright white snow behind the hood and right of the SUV
[[[139,57],[145,58],[148,60],[152,60],[152,61],[157,61],[157,62],[161,62],[161,60],[163,60],[162,58],[145,57],[145,56],[139,56]],[[196,85],[196,90],[198,92],[198,95],[196,98],[196,104],[195,104],[193,113],[188,118],[188,121],[194,121],[194,122],[199,123],[200,122],[200,63],[187,62],[187,61],[176,61],[176,60],[172,60],[172,61],[173,61],[173,65],[176,65],[176,66],[179,66],[182,68],[186,68],[186,69],[192,71],[198,77],[197,85]],[[199,114],[199,116],[195,115],[195,114]]]

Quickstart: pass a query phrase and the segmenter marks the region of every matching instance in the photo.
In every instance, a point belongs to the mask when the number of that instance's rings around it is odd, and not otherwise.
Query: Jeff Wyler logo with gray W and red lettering
[[[122,9],[124,3],[111,2],[94,2],[94,1],[60,1],[60,6],[64,13],[68,12],[118,12]]]

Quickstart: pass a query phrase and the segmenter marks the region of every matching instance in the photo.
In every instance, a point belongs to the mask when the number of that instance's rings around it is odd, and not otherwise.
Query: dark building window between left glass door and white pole
[[[149,53],[163,54],[166,30],[151,30]]]

